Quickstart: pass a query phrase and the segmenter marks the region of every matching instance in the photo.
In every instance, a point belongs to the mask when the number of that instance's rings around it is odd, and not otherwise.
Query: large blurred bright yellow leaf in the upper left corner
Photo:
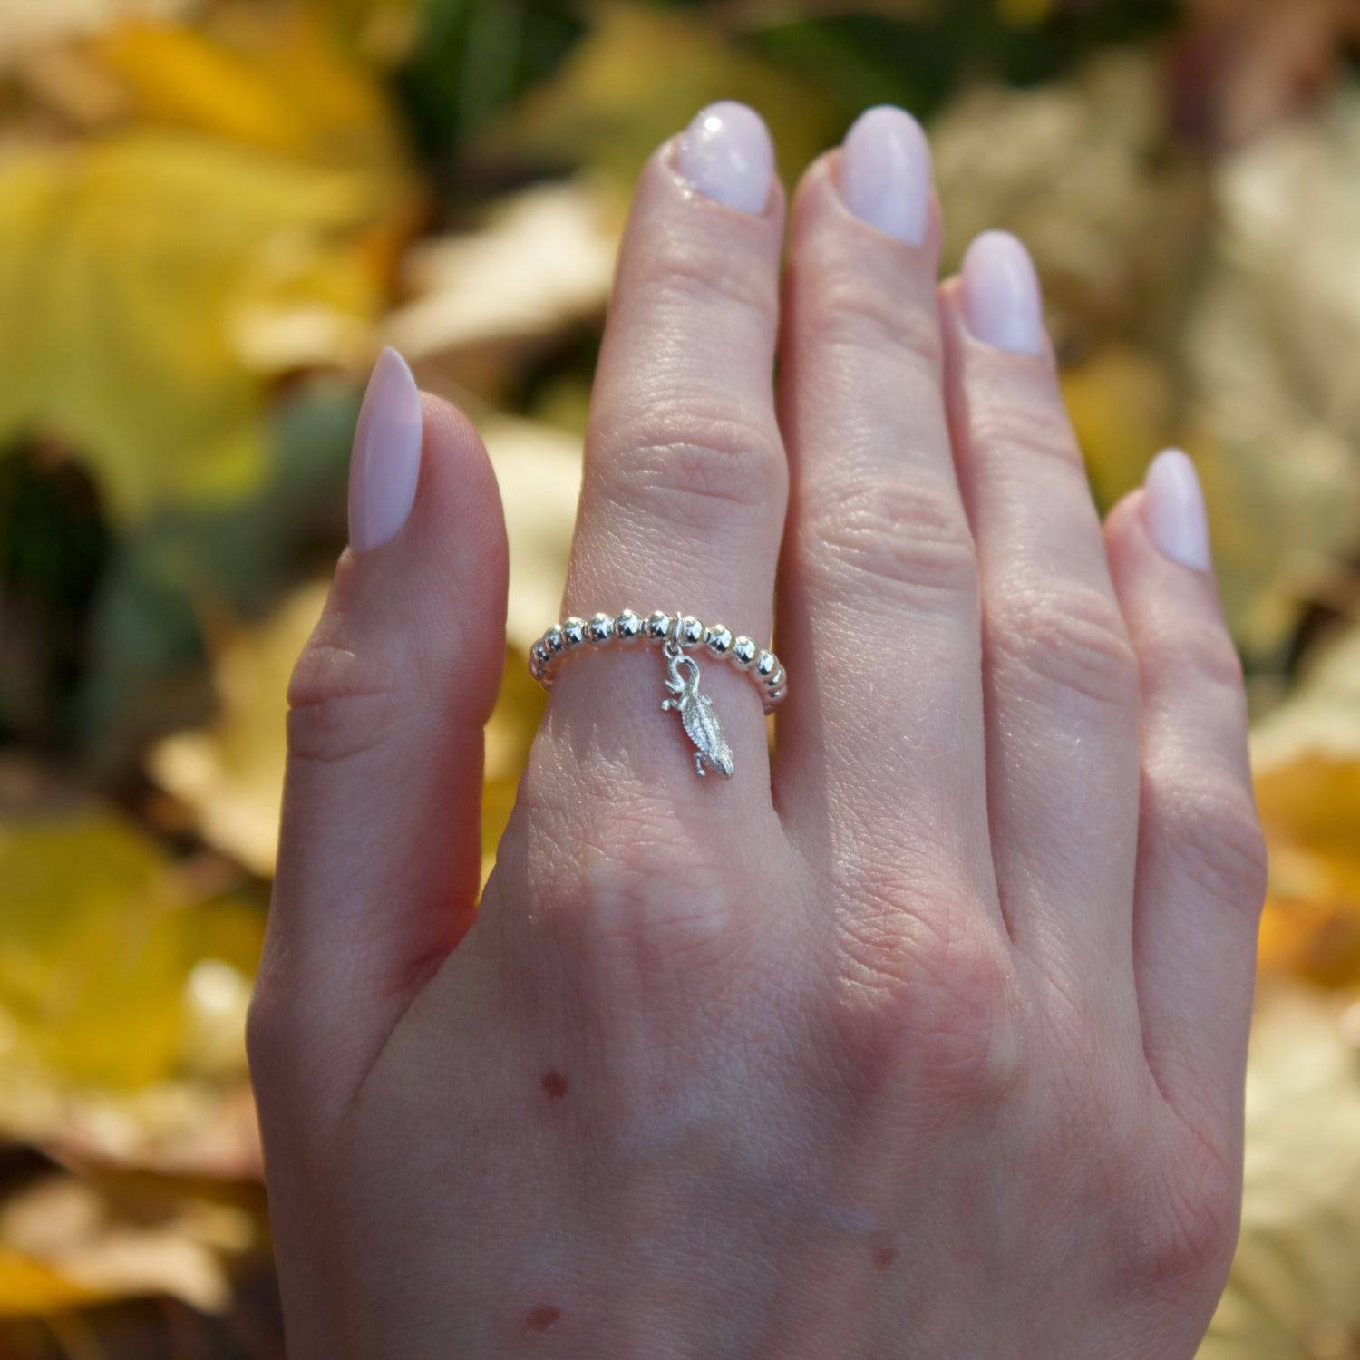
[[[0,159],[0,439],[54,435],[122,517],[253,490],[267,379],[369,348],[409,227],[377,87],[269,33],[118,29],[139,121]]]

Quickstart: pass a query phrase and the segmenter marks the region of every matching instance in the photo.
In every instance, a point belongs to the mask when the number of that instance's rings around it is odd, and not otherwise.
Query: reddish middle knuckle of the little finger
[[[1145,779],[1149,816],[1176,846],[1190,881],[1213,902],[1255,914],[1266,892],[1265,834],[1250,789],[1223,774]]]

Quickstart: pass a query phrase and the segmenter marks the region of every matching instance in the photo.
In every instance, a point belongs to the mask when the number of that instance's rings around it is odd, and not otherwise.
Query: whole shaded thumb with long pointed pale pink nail
[[[358,1088],[472,921],[506,536],[468,420],[385,350],[355,431],[350,547],[288,690],[279,866],[249,1046]]]

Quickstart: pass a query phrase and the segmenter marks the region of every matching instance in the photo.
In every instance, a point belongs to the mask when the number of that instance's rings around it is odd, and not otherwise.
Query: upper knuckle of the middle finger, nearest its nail
[[[933,306],[877,287],[854,268],[828,271],[819,287],[806,290],[804,306],[819,348],[845,351],[857,362],[906,359],[937,381],[942,345]]]

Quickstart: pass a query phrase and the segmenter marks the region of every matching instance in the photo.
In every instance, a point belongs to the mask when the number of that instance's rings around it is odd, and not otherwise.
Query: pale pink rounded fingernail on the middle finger
[[[855,118],[840,148],[840,196],[870,227],[918,246],[930,214],[930,147],[921,124],[880,105]]]

